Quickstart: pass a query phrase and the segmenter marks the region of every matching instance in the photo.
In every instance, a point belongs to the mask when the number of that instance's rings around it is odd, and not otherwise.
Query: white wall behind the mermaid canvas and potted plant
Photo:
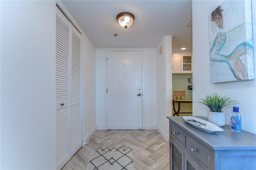
[[[256,80],[230,83],[210,83],[208,16],[223,1],[192,1],[193,19],[193,116],[208,117],[208,108],[198,106],[198,98],[213,92],[228,95],[240,104],[242,130],[256,134]],[[256,75],[256,1],[252,1],[254,72]],[[197,107],[198,106],[198,107]],[[224,110],[226,125],[230,125],[232,107]]]

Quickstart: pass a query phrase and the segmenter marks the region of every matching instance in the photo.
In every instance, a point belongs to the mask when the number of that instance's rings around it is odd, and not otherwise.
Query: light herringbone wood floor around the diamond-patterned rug
[[[169,170],[169,142],[157,130],[96,130],[62,170],[85,170],[100,147],[131,147],[135,170]]]

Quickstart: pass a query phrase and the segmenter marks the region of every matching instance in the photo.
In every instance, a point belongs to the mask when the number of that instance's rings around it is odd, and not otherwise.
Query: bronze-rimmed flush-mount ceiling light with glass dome
[[[130,12],[122,12],[116,16],[117,22],[125,29],[132,25],[135,17]]]

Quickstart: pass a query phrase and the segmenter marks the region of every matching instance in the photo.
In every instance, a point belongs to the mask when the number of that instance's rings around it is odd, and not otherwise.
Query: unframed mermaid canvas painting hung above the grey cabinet
[[[251,1],[224,1],[208,20],[211,83],[254,79]]]

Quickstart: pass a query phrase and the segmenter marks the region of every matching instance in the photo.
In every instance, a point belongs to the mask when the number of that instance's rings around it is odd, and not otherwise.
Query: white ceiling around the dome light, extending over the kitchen
[[[172,51],[192,51],[192,0],[62,0],[96,48],[156,48],[172,36]],[[121,27],[117,14],[130,12],[132,26]],[[115,38],[113,34],[118,34]]]

